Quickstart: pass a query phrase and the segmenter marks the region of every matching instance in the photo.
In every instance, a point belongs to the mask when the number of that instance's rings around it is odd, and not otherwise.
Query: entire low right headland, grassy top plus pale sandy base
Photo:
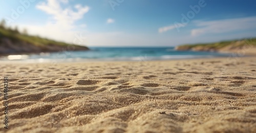
[[[244,52],[245,55],[256,55],[256,38],[205,44],[186,44],[176,46],[175,49],[193,51]]]

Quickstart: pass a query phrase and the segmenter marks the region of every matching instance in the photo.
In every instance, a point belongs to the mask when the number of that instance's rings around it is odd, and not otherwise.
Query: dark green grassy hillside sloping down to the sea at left
[[[17,30],[0,26],[0,55],[54,52],[62,50],[89,50],[89,48],[38,36],[30,36],[19,33]]]

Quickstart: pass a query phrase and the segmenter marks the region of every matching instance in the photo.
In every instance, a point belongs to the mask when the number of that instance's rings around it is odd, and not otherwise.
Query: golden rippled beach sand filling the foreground
[[[1,132],[256,132],[255,57],[0,67]]]

